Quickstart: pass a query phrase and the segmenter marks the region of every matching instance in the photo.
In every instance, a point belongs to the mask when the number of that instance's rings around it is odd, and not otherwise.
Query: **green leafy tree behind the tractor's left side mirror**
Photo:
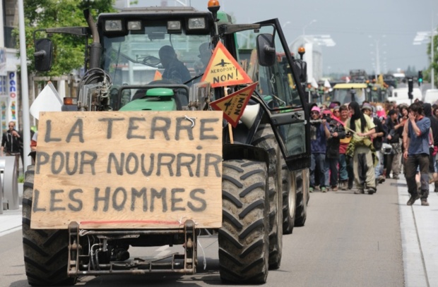
[[[28,73],[35,73],[33,54],[33,32],[45,28],[87,26],[83,10],[90,8],[94,18],[98,13],[114,12],[114,0],[24,0],[26,53]],[[13,31],[19,47],[18,29]],[[49,37],[37,32],[35,38]],[[54,34],[50,37],[54,43],[52,70],[39,75],[66,75],[73,69],[84,65],[85,38],[74,35]]]

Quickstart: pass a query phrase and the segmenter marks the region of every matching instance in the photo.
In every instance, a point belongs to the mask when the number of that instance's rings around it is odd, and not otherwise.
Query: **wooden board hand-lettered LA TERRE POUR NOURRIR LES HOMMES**
[[[220,227],[222,116],[42,112],[31,228]]]

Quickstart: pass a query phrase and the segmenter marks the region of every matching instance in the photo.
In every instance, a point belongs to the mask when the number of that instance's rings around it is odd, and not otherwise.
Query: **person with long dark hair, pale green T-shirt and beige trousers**
[[[351,118],[347,122],[347,127],[353,132],[353,138],[347,149],[347,156],[353,157],[353,173],[357,191],[355,194],[365,193],[369,195],[376,193],[376,180],[374,176],[375,150],[372,145],[371,135],[376,129],[372,119],[360,111],[357,102],[350,102],[348,109]],[[377,161],[376,161],[377,164]]]

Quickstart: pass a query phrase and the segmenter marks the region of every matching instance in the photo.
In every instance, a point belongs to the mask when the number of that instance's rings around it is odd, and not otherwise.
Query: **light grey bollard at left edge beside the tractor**
[[[1,164],[4,162],[3,166]],[[20,208],[18,202],[18,178],[16,158],[0,157],[0,169],[3,170],[3,209],[7,204],[7,209]]]

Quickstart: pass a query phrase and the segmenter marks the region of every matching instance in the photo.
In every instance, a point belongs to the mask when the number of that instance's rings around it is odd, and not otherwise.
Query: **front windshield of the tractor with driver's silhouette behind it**
[[[203,73],[200,47],[209,47],[210,35],[187,35],[184,29],[170,32],[166,21],[143,25],[141,30],[129,30],[126,35],[103,37],[102,68],[113,84],[146,85],[165,78],[185,83]],[[177,75],[167,69],[175,66]]]

